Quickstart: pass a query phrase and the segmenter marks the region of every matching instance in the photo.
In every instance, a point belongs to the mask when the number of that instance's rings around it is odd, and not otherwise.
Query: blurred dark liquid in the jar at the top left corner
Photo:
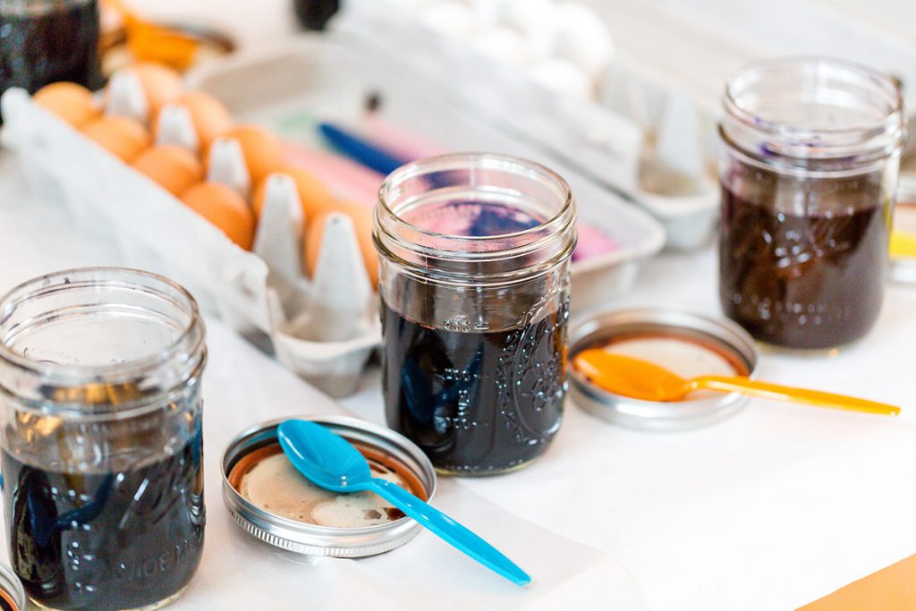
[[[57,81],[101,87],[98,40],[97,0],[0,4],[0,92]]]

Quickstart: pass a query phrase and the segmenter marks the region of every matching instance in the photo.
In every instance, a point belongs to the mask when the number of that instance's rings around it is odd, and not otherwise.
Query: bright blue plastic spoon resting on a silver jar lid
[[[373,477],[363,454],[321,424],[286,420],[279,425],[277,437],[289,462],[312,483],[334,492],[370,490],[492,571],[518,585],[531,581],[515,562],[439,509],[397,484]]]

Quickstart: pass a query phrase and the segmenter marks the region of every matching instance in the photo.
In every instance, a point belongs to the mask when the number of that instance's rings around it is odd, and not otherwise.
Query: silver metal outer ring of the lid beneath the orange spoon
[[[570,360],[584,348],[622,335],[653,334],[701,340],[747,366],[751,377],[757,370],[757,344],[736,323],[660,308],[605,311],[577,322],[570,330]],[[682,431],[724,420],[744,407],[747,398],[737,393],[677,403],[643,401],[622,397],[595,387],[570,367],[570,394],[585,411],[616,424],[649,431]]]

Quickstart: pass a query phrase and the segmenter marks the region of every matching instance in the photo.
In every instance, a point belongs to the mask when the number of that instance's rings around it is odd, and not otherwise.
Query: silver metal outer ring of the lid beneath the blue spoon
[[[420,480],[427,498],[436,490],[436,473],[430,459],[413,442],[395,431],[365,420],[344,416],[300,417],[328,426],[350,441],[365,443],[387,453],[406,466]],[[277,442],[277,427],[286,418],[270,420],[240,433],[223,453],[223,500],[235,522],[256,538],[283,550],[313,556],[359,558],[391,551],[404,545],[420,532],[412,518],[400,518],[385,524],[361,528],[333,528],[303,524],[271,514],[256,507],[229,483],[234,464],[245,454]]]

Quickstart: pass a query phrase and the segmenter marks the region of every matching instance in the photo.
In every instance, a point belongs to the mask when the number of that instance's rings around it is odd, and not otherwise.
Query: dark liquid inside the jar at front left
[[[191,581],[203,550],[200,432],[136,468],[60,472],[4,452],[3,474],[11,563],[40,605],[141,608]]]

